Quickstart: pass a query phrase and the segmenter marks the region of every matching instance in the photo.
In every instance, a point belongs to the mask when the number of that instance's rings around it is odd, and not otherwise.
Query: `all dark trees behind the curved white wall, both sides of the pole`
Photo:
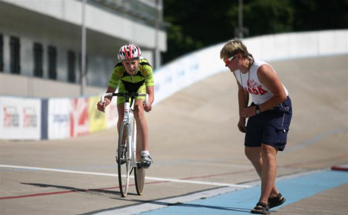
[[[348,0],[244,0],[245,37],[296,31],[348,28]],[[238,0],[164,0],[167,63],[235,35]]]

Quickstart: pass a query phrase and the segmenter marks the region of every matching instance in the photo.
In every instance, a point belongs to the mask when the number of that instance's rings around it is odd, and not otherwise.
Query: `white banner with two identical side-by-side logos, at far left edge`
[[[41,100],[0,96],[0,139],[40,140]]]

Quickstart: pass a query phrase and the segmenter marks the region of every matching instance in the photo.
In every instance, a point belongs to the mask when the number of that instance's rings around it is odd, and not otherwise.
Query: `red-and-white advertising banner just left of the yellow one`
[[[89,134],[88,98],[70,99],[70,136]]]

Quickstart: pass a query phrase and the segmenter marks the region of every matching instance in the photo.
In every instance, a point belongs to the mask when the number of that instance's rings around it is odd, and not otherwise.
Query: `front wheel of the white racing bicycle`
[[[129,175],[130,175],[130,160],[128,154],[128,138],[127,124],[122,122],[118,137],[117,150],[117,167],[118,167],[118,183],[120,185],[120,193],[122,197],[126,197],[128,193]],[[126,144],[122,144],[126,143]]]

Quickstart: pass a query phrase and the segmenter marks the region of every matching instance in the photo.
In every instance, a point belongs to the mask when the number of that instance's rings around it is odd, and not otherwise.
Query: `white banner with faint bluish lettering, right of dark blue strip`
[[[48,100],[48,139],[70,137],[70,100],[69,98]]]

